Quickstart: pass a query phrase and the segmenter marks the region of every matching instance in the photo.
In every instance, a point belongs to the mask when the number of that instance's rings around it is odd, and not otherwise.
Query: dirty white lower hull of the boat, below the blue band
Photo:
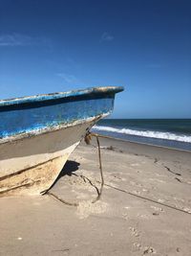
[[[95,120],[0,144],[0,195],[48,190]]]

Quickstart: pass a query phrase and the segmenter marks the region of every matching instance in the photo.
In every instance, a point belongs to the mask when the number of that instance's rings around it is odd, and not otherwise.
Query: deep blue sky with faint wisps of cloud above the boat
[[[191,1],[0,0],[0,99],[123,85],[113,118],[191,118]]]

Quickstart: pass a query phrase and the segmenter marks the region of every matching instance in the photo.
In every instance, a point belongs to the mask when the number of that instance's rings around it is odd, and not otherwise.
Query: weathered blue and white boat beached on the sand
[[[0,195],[48,190],[122,90],[107,86],[0,101]]]

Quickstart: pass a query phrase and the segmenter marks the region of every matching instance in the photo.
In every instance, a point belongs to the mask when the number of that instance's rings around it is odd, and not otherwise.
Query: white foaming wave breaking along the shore
[[[130,129],[130,128],[111,128],[111,127],[103,127],[103,126],[95,126],[93,129],[117,132],[117,133],[128,134],[128,135],[137,135],[142,137],[175,140],[180,142],[191,143],[191,136],[179,135],[171,132],[162,132],[162,131],[153,131],[153,130],[136,130],[136,129]]]

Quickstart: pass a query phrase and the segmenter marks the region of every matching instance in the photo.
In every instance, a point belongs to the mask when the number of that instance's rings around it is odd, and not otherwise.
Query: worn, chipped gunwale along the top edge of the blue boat
[[[26,96],[20,98],[13,98],[7,100],[0,100],[0,107],[6,107],[9,105],[23,105],[23,104],[34,104],[39,102],[49,102],[58,99],[66,98],[78,98],[83,96],[94,96],[103,94],[116,94],[123,91],[122,86],[100,86],[100,87],[90,87],[86,89],[71,90],[67,92],[55,92],[49,94],[39,94],[34,96]]]

